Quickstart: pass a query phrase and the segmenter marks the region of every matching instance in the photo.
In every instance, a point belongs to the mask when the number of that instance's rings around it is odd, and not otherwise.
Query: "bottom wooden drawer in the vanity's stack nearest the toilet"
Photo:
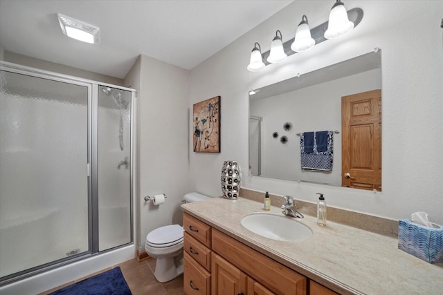
[[[183,291],[187,295],[210,295],[210,273],[187,252],[183,253]]]

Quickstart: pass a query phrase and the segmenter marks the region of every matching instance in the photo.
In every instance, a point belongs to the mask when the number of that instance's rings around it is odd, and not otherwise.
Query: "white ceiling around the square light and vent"
[[[0,0],[0,47],[122,79],[138,55],[190,70],[292,1]],[[57,13],[98,26],[100,44],[63,35]]]

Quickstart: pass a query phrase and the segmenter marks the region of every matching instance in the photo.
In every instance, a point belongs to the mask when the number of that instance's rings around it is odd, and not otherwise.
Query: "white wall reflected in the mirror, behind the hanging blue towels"
[[[381,70],[335,79],[296,91],[257,99],[249,105],[249,115],[262,117],[262,174],[264,177],[341,185],[341,133],[334,134],[332,171],[302,171],[300,136],[308,131],[341,130],[341,97],[381,88]],[[292,129],[284,131],[290,122]],[[278,132],[279,137],[272,134]],[[288,142],[282,144],[281,136]]]

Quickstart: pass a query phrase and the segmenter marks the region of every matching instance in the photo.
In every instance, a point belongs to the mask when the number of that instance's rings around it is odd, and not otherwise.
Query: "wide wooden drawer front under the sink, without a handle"
[[[306,295],[307,279],[289,267],[213,229],[213,251],[275,294]]]

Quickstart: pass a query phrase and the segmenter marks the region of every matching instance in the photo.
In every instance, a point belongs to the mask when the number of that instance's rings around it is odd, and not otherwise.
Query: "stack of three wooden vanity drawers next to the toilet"
[[[183,228],[183,291],[210,295],[211,227],[184,213]]]

